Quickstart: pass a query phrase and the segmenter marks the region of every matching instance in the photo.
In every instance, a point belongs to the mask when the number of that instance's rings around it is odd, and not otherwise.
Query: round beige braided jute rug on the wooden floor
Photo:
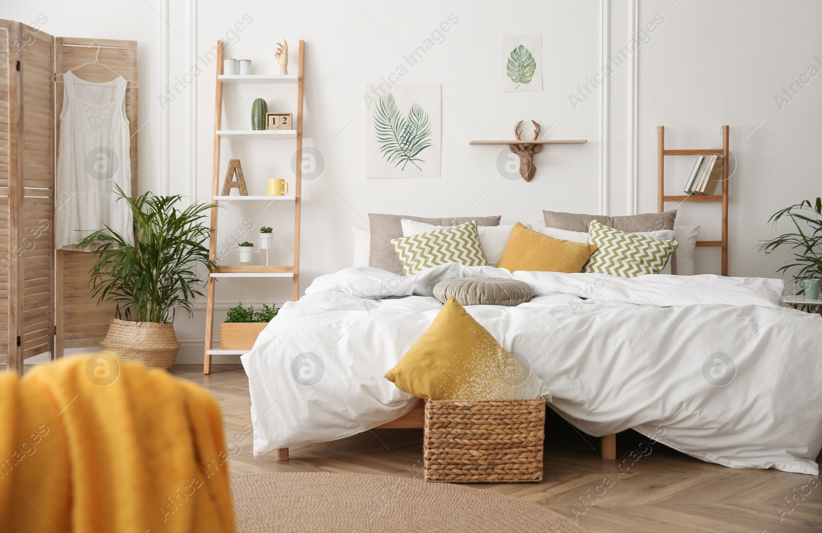
[[[239,533],[584,533],[534,503],[409,477],[277,473],[233,477],[231,486]]]

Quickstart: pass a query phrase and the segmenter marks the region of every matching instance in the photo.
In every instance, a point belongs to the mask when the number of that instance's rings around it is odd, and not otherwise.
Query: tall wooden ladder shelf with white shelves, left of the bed
[[[305,44],[300,41],[298,74],[277,75],[223,75],[223,41],[217,41],[217,90],[215,91],[214,110],[214,167],[211,178],[211,235],[209,241],[210,259],[217,258],[217,211],[218,204],[237,201],[278,201],[294,202],[294,260],[291,266],[236,266],[224,265],[218,271],[209,273],[207,282],[208,299],[205,306],[205,358],[203,360],[203,374],[211,373],[211,356],[242,355],[249,350],[220,350],[212,349],[214,342],[214,301],[218,278],[292,278],[293,300],[299,298],[300,273],[300,193],[302,190],[302,85]],[[224,83],[296,83],[297,84],[297,129],[296,130],[268,130],[268,131],[231,131],[221,130],[223,117],[223,84]],[[297,154],[294,173],[293,196],[222,196],[219,195],[219,148],[220,140],[228,139],[296,139]]]

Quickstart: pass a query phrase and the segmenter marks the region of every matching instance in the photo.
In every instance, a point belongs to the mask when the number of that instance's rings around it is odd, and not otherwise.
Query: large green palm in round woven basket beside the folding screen
[[[118,187],[119,200],[132,210],[134,238],[110,227],[91,233],[78,247],[92,248],[91,295],[116,301],[117,318],[100,347],[122,360],[170,368],[180,344],[174,335],[174,313],[192,316],[192,300],[205,284],[197,265],[218,269],[204,246],[210,229],[205,212],[210,204],[176,206],[182,195],[132,198]]]

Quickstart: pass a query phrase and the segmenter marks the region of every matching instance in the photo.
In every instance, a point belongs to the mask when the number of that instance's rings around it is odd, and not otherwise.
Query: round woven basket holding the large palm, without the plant
[[[165,369],[174,365],[180,351],[174,324],[118,319],[112,319],[100,347],[114,352],[122,361],[140,361],[146,366]]]

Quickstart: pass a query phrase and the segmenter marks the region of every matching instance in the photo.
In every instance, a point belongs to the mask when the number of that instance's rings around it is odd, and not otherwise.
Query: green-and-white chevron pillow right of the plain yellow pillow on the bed
[[[595,272],[634,278],[642,274],[655,274],[665,268],[668,258],[677,250],[677,241],[644,237],[623,232],[592,220],[588,230],[588,243],[597,246],[583,272]]]

